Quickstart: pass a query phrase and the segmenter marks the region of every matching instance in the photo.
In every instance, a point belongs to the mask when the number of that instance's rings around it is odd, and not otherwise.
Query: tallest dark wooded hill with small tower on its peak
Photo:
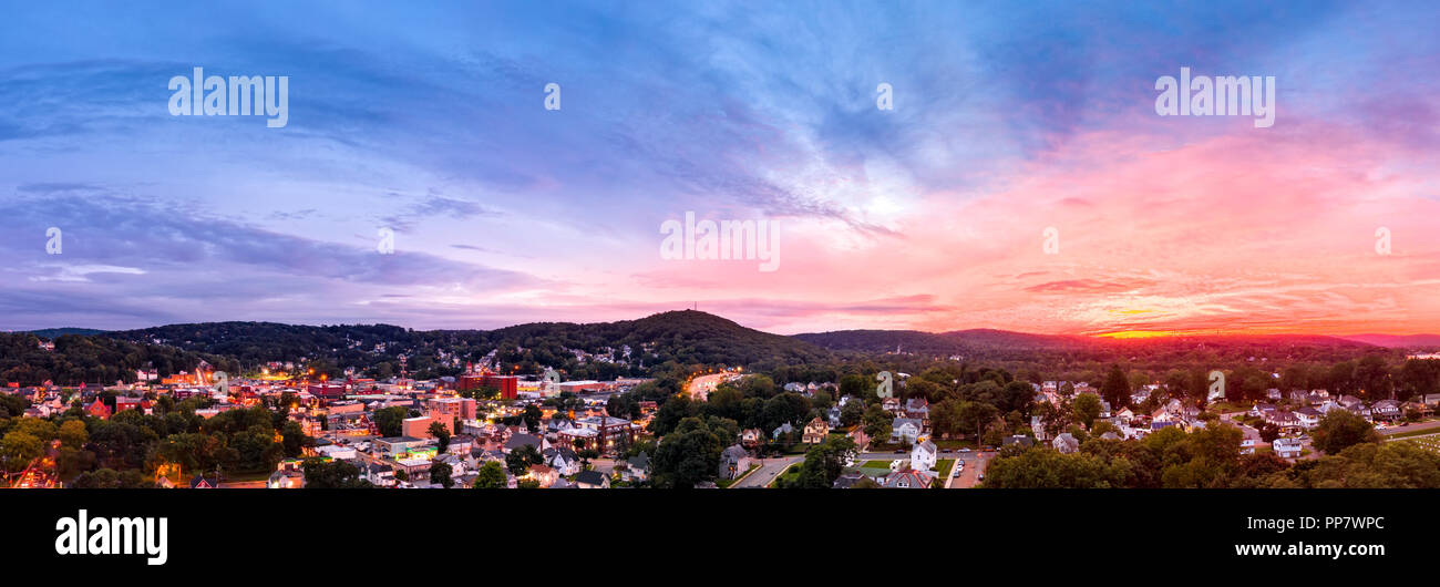
[[[248,368],[307,360],[315,363],[311,367],[331,373],[357,367],[373,377],[399,373],[399,357],[405,355],[409,371],[422,378],[458,374],[465,363],[481,363],[491,354],[516,373],[536,374],[554,367],[569,378],[642,376],[668,361],[756,365],[829,357],[829,351],[809,342],[698,311],[618,322],[534,322],[492,331],[204,322],[107,332],[107,337],[235,357]]]

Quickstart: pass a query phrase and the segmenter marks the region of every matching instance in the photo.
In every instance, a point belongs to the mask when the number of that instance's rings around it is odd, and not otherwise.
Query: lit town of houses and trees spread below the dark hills
[[[717,318],[687,311],[648,319]],[[121,344],[65,335],[58,347],[29,334],[9,337],[33,344],[42,358]],[[564,355],[570,368],[576,357],[596,361],[586,351]],[[955,355],[899,350],[842,361],[838,370],[667,361],[651,376],[611,380],[566,380],[552,365],[541,371],[501,357],[533,355],[497,348],[454,376],[426,378],[412,377],[409,357],[399,354],[390,377],[347,367],[331,378],[336,367],[323,358],[264,361],[228,374],[197,358],[193,368],[168,374],[141,367],[127,374],[130,383],[112,386],[9,381],[0,394],[0,459],[12,488],[1440,483],[1440,393],[1405,393],[1437,383],[1440,360],[1431,354],[1405,355],[1394,370],[1378,354],[1333,368],[1292,364],[1266,373],[1247,364],[1231,371],[1228,399],[1208,397],[1202,371],[1155,381],[1112,364],[1084,380],[1048,380],[1030,368],[1018,378]],[[880,371],[876,360],[922,370]],[[540,373],[520,374],[523,365]],[[1264,381],[1274,387],[1257,387]],[[1345,388],[1299,386],[1310,381]],[[1367,381],[1390,388],[1367,390]],[[1359,475],[1378,453],[1407,463],[1398,478]]]

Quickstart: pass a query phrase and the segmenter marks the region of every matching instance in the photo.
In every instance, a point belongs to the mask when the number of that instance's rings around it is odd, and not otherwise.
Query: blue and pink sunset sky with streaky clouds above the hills
[[[1440,6],[1253,4],[10,4],[0,329],[1440,332]],[[288,124],[171,115],[193,68]],[[1158,114],[1181,68],[1273,125]]]

